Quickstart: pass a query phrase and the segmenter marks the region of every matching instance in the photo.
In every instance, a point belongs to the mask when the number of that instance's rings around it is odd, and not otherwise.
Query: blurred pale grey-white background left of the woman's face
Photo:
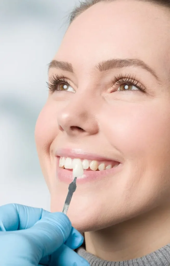
[[[34,128],[47,95],[47,64],[79,0],[0,0],[0,205],[49,210]]]

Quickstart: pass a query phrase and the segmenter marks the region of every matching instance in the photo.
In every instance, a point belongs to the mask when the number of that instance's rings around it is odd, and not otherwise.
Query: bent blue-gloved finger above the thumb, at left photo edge
[[[15,231],[32,227],[49,212],[20,204],[0,206],[0,231]]]

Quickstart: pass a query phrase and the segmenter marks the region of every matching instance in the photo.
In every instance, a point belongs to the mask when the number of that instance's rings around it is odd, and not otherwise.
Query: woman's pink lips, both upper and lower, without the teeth
[[[71,158],[79,158],[79,159],[88,159],[88,160],[97,160],[97,161],[106,161],[111,159],[101,156],[96,156],[94,154],[84,153],[81,150],[70,150],[70,149],[60,149],[56,152],[57,157],[57,177],[60,181],[70,184],[73,180],[73,174],[71,170],[63,169],[59,167],[59,156],[64,157],[71,157]],[[113,161],[113,159],[112,159]],[[84,184],[86,182],[91,182],[95,180],[100,180],[104,178],[108,178],[108,176],[113,176],[116,174],[120,169],[122,164],[118,165],[117,167],[103,170],[103,171],[84,171],[82,178],[77,178],[77,184]]]

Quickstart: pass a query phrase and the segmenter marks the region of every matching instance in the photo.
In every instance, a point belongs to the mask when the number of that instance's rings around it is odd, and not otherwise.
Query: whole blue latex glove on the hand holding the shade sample
[[[82,242],[83,236],[63,213],[19,204],[0,207],[2,266],[89,266],[73,251]]]

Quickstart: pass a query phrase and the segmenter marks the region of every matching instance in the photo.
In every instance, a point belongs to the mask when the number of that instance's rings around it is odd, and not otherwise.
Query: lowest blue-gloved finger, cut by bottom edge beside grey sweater
[[[90,266],[88,262],[80,257],[75,251],[63,244],[51,256],[48,266]]]

